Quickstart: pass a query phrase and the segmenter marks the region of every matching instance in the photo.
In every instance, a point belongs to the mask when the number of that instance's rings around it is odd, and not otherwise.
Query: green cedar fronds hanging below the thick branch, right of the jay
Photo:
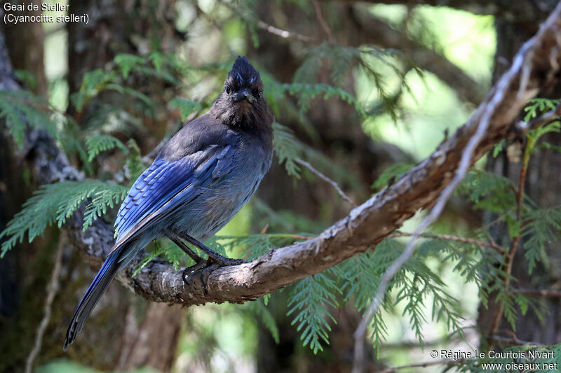
[[[455,254],[453,259],[461,257],[465,260],[463,263],[458,263],[454,271],[470,270],[479,278],[482,276],[479,271],[482,271],[483,266],[479,265],[473,254],[467,250],[467,248],[472,249],[469,245],[456,246],[445,240],[442,240],[439,245],[434,245],[434,241],[430,241],[424,244],[419,255],[400,269],[390,283],[381,309],[370,321],[371,338],[375,349],[379,349],[387,337],[387,326],[384,318],[381,317],[382,309],[389,311],[398,304],[403,304],[403,313],[409,316],[410,325],[421,343],[423,340],[421,330],[427,322],[424,309],[428,300],[431,301],[431,319],[442,321],[449,330],[462,335],[463,317],[457,300],[447,293],[445,283],[438,274],[429,269],[424,260],[431,255],[442,260],[442,247],[452,246],[450,252],[453,251]],[[309,343],[312,351],[317,353],[322,351],[322,344],[329,343],[329,323],[334,322],[330,308],[334,309],[339,304],[352,300],[358,310],[365,311],[373,300],[379,279],[401,251],[403,251],[402,244],[392,239],[385,239],[374,252],[356,255],[322,274],[300,281],[290,293],[289,314],[299,311],[293,323],[298,324],[304,346]],[[471,258],[464,259],[464,256]],[[450,255],[445,257],[452,260]],[[394,296],[391,297],[390,294]]]

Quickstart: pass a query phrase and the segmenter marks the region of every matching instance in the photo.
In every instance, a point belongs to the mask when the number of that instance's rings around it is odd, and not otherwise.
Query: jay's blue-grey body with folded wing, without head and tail
[[[212,237],[257,190],[271,167],[271,148],[270,133],[231,129],[210,113],[189,122],[130,188],[115,222],[117,241],[133,231],[140,250],[167,229],[199,241]],[[177,206],[166,206],[165,219],[158,216],[145,230],[133,230],[129,222],[157,211],[168,201],[166,193],[182,196],[176,197]],[[156,203],[150,205],[148,198]],[[130,258],[135,254],[130,250]]]

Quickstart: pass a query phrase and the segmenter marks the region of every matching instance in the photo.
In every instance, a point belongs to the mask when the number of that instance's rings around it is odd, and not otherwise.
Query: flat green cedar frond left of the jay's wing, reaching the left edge
[[[62,181],[42,185],[33,197],[23,204],[22,211],[15,214],[6,229],[0,233],[0,239],[6,241],[1,246],[1,256],[6,254],[18,242],[23,241],[27,233],[29,242],[43,234],[47,225],[57,223],[58,227],[66,222],[83,202],[91,198],[86,205],[83,229],[86,230],[93,220],[107,211],[107,207],[121,202],[128,189],[121,185],[111,185],[102,181]]]

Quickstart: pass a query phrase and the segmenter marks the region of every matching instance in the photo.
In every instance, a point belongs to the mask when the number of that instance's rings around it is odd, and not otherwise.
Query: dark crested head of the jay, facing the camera
[[[246,57],[238,56],[234,62],[211,113],[230,127],[271,126],[273,117],[263,97],[261,76]]]

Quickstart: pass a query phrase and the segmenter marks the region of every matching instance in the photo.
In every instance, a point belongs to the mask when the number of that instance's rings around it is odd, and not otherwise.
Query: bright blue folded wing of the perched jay
[[[180,160],[156,159],[137,178],[121,204],[115,221],[116,246],[180,204],[189,203],[213,180],[228,174],[234,164],[232,148],[213,145]]]

